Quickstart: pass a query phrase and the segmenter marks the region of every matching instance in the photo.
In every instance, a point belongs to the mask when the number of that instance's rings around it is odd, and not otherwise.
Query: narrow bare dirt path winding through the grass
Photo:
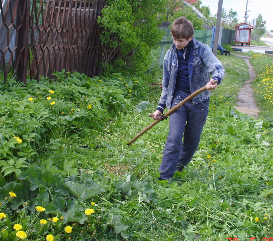
[[[248,65],[248,71],[249,71],[249,80],[245,82],[245,85],[242,87],[240,92],[238,93],[238,98],[239,101],[236,102],[238,106],[235,106],[235,108],[242,112],[247,114],[248,116],[252,116],[254,118],[258,118],[258,113],[260,110],[256,106],[255,99],[252,97],[253,96],[253,89],[251,88],[250,83],[255,80],[256,78],[256,73],[252,67],[252,65],[249,62],[250,57],[248,56],[239,56],[236,55],[237,57],[243,58],[247,65]]]

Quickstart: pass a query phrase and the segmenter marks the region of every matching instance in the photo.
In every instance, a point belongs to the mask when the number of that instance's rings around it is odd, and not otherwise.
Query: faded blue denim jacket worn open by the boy
[[[193,45],[189,56],[189,83],[190,92],[204,87],[210,81],[210,74],[212,78],[218,79],[218,84],[224,78],[225,70],[221,62],[214,56],[211,48],[192,39]],[[162,94],[159,105],[171,108],[172,98],[176,85],[176,76],[178,70],[178,60],[176,46],[173,44],[167,51],[163,62],[163,80],[162,80]],[[210,90],[205,90],[192,99],[193,104],[197,104],[210,97]]]

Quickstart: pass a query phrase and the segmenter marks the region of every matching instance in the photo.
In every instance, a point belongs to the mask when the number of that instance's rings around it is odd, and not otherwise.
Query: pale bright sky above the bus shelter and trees
[[[218,0],[201,0],[203,6],[209,6],[211,13],[217,14]],[[223,0],[223,8],[229,12],[232,8],[237,12],[237,19],[239,23],[244,22],[244,15],[246,11],[246,0]],[[248,0],[248,21],[256,19],[259,14],[262,15],[263,20],[266,21],[266,29],[273,30],[273,7],[272,0]]]

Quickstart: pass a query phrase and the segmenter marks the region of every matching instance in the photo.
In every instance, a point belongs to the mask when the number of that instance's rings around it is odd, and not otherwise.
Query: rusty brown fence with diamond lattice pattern
[[[0,0],[0,70],[52,78],[65,69],[96,76],[102,45],[97,18],[107,0]]]

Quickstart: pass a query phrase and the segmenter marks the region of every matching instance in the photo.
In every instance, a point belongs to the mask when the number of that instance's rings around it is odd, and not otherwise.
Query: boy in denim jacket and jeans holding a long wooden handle
[[[160,180],[169,180],[176,170],[182,171],[191,161],[208,115],[210,90],[217,87],[213,81],[220,84],[225,72],[210,47],[193,38],[191,21],[184,17],[177,18],[171,33],[173,44],[164,58],[163,90],[154,120],[160,118],[165,107],[173,108],[205,85],[207,90],[170,115],[169,134],[159,167]]]

